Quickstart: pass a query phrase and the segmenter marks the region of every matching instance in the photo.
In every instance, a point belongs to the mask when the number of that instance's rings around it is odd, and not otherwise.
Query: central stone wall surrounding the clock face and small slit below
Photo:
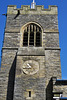
[[[35,60],[39,63],[39,70],[33,75],[23,72],[23,63]],[[31,91],[31,98],[29,97]],[[45,100],[45,57],[44,56],[17,56],[14,100]]]

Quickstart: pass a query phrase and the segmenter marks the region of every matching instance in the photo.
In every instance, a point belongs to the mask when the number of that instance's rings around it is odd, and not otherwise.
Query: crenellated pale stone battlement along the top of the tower
[[[43,5],[37,5],[35,9],[31,9],[30,5],[22,5],[20,9],[16,5],[9,5],[7,14],[58,14],[57,6],[49,6],[48,9],[44,9]]]

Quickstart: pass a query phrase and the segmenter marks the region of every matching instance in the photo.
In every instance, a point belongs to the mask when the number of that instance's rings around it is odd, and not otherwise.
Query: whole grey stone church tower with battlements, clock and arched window
[[[52,77],[61,78],[57,6],[7,8],[0,100],[52,100]]]

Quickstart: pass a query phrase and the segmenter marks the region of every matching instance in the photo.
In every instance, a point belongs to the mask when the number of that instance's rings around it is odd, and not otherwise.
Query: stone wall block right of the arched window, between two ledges
[[[45,47],[59,47],[59,34],[54,32],[43,33],[43,46],[44,45]]]

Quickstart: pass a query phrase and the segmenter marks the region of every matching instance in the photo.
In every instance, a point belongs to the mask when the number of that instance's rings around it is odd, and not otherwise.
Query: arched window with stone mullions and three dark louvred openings
[[[42,46],[42,30],[34,23],[27,25],[23,34],[23,46]]]

